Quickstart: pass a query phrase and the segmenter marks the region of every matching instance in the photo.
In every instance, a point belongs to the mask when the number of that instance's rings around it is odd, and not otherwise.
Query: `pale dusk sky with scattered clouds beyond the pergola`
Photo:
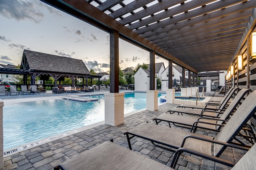
[[[21,63],[24,49],[81,59],[95,72],[109,69],[109,33],[39,0],[0,0],[0,64]],[[156,56],[156,63],[168,61]],[[122,69],[149,64],[149,52],[120,39]]]

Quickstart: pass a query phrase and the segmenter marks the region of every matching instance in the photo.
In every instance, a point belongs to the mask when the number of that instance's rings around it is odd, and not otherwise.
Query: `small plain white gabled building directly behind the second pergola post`
[[[135,91],[146,91],[149,90],[150,84],[150,70],[143,69],[140,67],[134,74],[134,90]],[[156,78],[155,78],[155,89],[156,89]]]

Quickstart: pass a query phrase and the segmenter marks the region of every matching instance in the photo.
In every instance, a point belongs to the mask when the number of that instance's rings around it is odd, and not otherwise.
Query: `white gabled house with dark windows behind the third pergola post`
[[[161,90],[166,91],[168,88],[168,77],[169,77],[169,66],[162,72],[162,86]],[[188,71],[185,71],[185,78],[188,79]],[[180,66],[173,65],[172,66],[172,80],[176,79],[176,86],[180,85],[180,81],[182,80],[182,68]]]

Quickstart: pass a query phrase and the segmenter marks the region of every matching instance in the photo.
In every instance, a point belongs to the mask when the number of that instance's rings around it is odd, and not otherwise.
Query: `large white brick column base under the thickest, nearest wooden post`
[[[124,123],[124,93],[105,93],[105,124]]]

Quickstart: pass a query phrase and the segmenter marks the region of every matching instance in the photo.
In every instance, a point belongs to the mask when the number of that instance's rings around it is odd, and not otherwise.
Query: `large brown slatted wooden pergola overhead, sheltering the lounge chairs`
[[[152,90],[155,54],[169,61],[169,72],[172,63],[196,75],[228,70],[256,25],[256,0],[41,1],[110,33],[111,88],[118,83],[118,38],[149,51]]]

